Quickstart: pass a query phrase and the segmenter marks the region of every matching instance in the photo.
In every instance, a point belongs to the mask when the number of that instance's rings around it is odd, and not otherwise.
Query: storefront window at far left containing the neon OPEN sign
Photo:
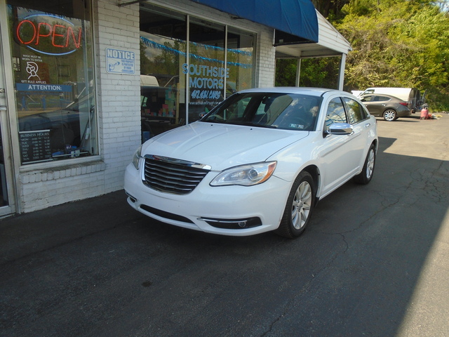
[[[8,0],[22,164],[98,154],[90,1]]]

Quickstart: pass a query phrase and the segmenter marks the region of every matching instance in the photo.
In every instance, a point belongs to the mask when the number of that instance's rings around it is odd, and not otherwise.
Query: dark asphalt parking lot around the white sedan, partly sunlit
[[[299,239],[154,222],[123,191],[0,221],[0,336],[449,336],[449,116],[378,119],[373,180]]]

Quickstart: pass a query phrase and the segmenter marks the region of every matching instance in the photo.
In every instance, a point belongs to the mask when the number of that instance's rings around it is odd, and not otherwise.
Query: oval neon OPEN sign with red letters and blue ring
[[[15,35],[20,44],[38,53],[67,55],[81,46],[82,29],[56,15],[34,14],[18,23]]]

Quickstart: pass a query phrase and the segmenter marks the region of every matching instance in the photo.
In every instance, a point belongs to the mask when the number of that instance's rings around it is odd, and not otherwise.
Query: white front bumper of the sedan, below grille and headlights
[[[279,227],[291,183],[272,176],[254,186],[211,187],[210,172],[189,194],[152,190],[130,164],[125,173],[128,204],[163,223],[203,232],[246,236]]]

